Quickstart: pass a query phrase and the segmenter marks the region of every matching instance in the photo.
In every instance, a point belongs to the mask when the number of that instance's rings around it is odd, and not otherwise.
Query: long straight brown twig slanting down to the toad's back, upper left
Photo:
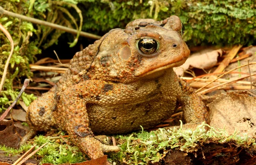
[[[67,28],[65,26],[57,25],[55,23],[49,23],[47,21],[38,20],[38,19],[35,19],[35,18],[32,18],[32,17],[26,17],[24,15],[20,15],[20,14],[16,14],[16,13],[7,11],[7,10],[3,9],[2,6],[0,6],[0,14],[5,14],[5,15],[8,15],[8,16],[11,16],[11,17],[19,18],[21,20],[25,20],[25,21],[35,23],[35,24],[39,24],[39,25],[49,26],[51,28],[63,30],[63,31],[66,31],[66,32],[71,33],[71,34],[78,34],[78,32],[79,32],[79,31],[77,31],[73,28]],[[87,38],[91,38],[91,39],[95,39],[95,40],[99,40],[101,38],[101,36],[98,36],[98,35],[95,35],[95,34],[90,34],[90,33],[84,32],[84,31],[81,31],[80,35],[83,36],[83,37],[87,37]]]

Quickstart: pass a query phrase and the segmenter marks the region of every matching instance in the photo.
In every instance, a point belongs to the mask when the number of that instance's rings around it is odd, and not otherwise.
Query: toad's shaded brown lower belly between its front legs
[[[154,125],[168,119],[177,108],[176,100],[150,101],[137,104],[87,104],[90,128],[95,134],[122,134]]]

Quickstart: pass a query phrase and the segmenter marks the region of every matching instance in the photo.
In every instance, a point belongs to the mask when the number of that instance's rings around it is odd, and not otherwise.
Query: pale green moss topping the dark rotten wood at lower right
[[[225,130],[218,129],[217,131],[211,127],[206,132],[205,127],[209,127],[209,125],[198,125],[195,131],[182,128],[169,130],[160,128],[157,131],[142,131],[128,136],[118,135],[116,139],[121,143],[119,146],[121,151],[109,154],[108,160],[112,163],[125,162],[131,165],[145,165],[149,162],[159,162],[172,148],[192,152],[207,141],[215,143],[232,141],[236,145],[248,147],[250,144],[256,147],[255,138],[249,138],[246,135],[240,136],[237,132],[228,136]]]

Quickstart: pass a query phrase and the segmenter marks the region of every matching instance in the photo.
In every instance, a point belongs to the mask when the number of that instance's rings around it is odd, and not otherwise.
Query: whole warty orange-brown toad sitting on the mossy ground
[[[200,97],[173,67],[189,57],[179,17],[138,19],[77,52],[59,82],[29,106],[35,131],[64,130],[91,159],[118,146],[104,135],[151,128],[182,105],[186,125],[207,121]]]

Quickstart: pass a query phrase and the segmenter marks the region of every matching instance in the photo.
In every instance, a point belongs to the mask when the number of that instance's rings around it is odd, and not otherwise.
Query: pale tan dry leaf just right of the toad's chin
[[[217,57],[222,55],[222,52],[223,51],[221,49],[213,51],[212,49],[207,49],[191,54],[188,60],[186,60],[183,65],[174,68],[174,71],[178,76],[181,76],[183,75],[184,71],[189,68],[189,66],[200,69],[212,68],[217,63]]]

